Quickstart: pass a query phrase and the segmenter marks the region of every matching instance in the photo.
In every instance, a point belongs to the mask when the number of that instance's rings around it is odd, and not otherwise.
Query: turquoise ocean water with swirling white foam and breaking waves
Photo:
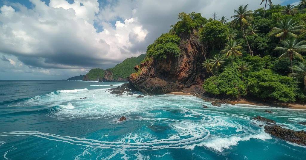
[[[293,130],[305,110],[214,107],[200,98],[136,98],[122,83],[0,81],[0,159],[304,159],[306,148],[263,131],[260,115]],[[79,99],[88,97],[88,99]],[[170,101],[169,101],[170,100]],[[207,105],[209,108],[203,108]],[[274,113],[265,113],[264,110]],[[118,122],[121,116],[127,120]]]

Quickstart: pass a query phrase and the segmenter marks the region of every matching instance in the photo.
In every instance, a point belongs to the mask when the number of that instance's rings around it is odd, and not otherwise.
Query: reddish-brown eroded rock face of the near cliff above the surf
[[[135,66],[137,73],[131,74],[129,82],[144,94],[165,94],[181,91],[184,87],[202,85],[205,78],[202,62],[207,48],[199,41],[198,34],[181,34],[179,57],[143,62]]]

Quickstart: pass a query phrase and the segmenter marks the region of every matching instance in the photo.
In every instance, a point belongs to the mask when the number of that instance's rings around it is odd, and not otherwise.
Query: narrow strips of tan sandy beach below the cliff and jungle
[[[183,92],[171,92],[167,94],[192,95],[191,93],[183,93]],[[234,105],[245,104],[245,105],[276,107],[276,108],[306,109],[306,104],[298,104],[298,103],[267,103],[267,102],[252,101],[252,100],[246,100],[246,99],[241,99],[240,101],[231,101],[231,102]]]

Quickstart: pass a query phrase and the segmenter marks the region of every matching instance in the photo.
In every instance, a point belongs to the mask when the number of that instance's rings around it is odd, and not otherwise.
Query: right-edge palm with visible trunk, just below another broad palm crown
[[[298,42],[296,38],[291,37],[290,39],[286,39],[285,41],[281,41],[283,47],[276,47],[275,50],[282,52],[283,54],[279,56],[279,58],[289,57],[290,67],[292,68],[292,59],[293,57],[297,57],[303,60],[303,57],[298,52],[306,52],[306,41]],[[292,69],[293,73],[293,69]]]

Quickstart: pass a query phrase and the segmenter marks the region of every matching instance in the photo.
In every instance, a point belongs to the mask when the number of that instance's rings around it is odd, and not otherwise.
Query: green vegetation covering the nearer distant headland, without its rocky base
[[[127,58],[114,68],[106,69],[106,71],[113,73],[112,77],[114,80],[118,80],[118,78],[126,79],[135,72],[134,66],[139,65],[145,57],[145,54],[141,54],[138,57]]]

